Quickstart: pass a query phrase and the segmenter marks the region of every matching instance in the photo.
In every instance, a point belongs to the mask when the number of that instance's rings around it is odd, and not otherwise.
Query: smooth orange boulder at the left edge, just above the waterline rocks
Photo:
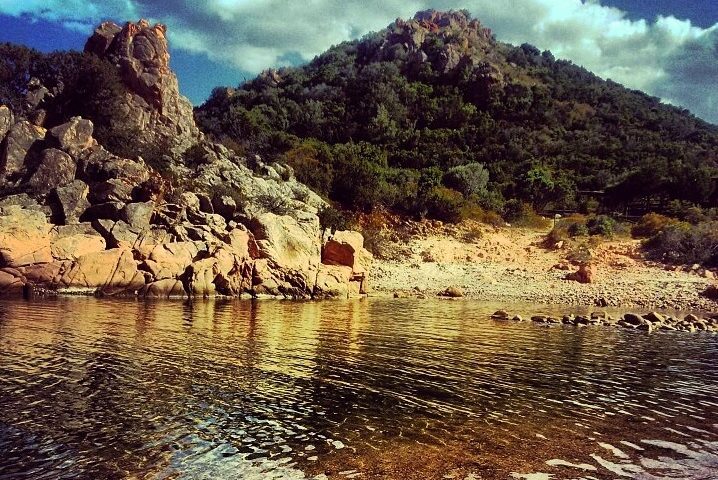
[[[42,212],[19,206],[0,209],[0,267],[52,262],[51,230]]]

